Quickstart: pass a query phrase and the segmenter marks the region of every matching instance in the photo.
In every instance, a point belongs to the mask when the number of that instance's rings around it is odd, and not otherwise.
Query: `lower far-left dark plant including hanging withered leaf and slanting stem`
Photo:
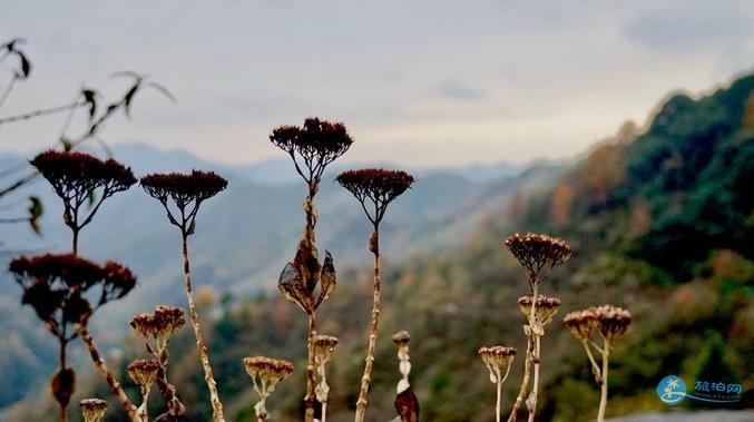
[[[67,365],[67,345],[81,336],[92,356],[98,355],[86,330],[87,323],[99,307],[128,294],[136,285],[136,278],[120,264],[109,262],[100,266],[71,254],[19,257],[10,263],[9,271],[23,288],[22,303],[35,310],[58,340],[59,371],[51,386],[60,405],[61,421],[67,421],[67,406],[76,387],[76,374]],[[124,409],[134,410],[117,381],[105,372]]]

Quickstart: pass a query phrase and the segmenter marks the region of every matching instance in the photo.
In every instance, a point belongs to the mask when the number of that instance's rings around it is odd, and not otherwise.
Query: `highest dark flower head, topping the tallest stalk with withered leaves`
[[[288,153],[296,171],[310,185],[316,185],[325,167],[345,154],[353,139],[345,125],[319,118],[307,118],[303,127],[281,126],[273,129],[270,140]]]

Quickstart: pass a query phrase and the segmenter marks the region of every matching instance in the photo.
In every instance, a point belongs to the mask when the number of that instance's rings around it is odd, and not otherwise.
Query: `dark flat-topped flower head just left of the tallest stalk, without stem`
[[[194,234],[199,205],[227,187],[227,180],[223,177],[213,171],[200,170],[189,174],[151,174],[143,177],[140,183],[149,196],[163,204],[168,220],[186,236]],[[177,213],[172,210],[170,200]]]

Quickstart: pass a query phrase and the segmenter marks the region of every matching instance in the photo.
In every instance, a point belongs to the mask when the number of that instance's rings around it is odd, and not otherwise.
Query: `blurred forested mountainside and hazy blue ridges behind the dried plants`
[[[754,76],[746,76],[704,97],[670,96],[646,127],[627,122],[568,165],[419,173],[413,190],[391,206],[382,235],[385,305],[370,420],[394,414],[399,374],[389,334],[400,328],[412,334],[412,385],[423,420],[491,419],[493,389],[474,352],[490,344],[525,347],[516,298],[527,285],[502,246],[513,230],[545,232],[574,245],[574,258],[544,286],[545,294],[562,300],[560,316],[601,303],[634,314],[611,361],[608,414],[670,410],[654,392],[669,374],[742,383],[747,393],[735,406],[752,406],[753,90]],[[193,243],[212,361],[228,413],[238,421],[249,420],[254,405],[242,357],[264,354],[295,362],[296,372],[278,386],[270,408],[276,420],[296,420],[305,324],[274,287],[303,227],[304,187],[293,170],[283,160],[228,167],[143,145],[117,147],[115,155],[140,175],[197,167],[231,179],[228,190],[203,209]],[[4,155],[0,161],[22,158]],[[35,238],[17,227],[3,242],[23,249],[66,249],[69,235],[58,222],[56,198],[42,181],[29,189],[46,195],[45,236]],[[317,196],[319,245],[333,253],[340,277],[320,313],[320,332],[341,338],[331,366],[332,421],[349,420],[355,403],[371,306],[369,227],[341,190],[326,183]],[[133,188],[104,206],[80,242],[82,254],[120,261],[140,277],[138,288],[98,316],[95,326],[116,366],[143,354],[126,330],[130,314],[185,301],[178,234],[160,209]],[[12,292],[16,286],[3,277]],[[53,414],[45,411],[52,349],[12,294],[0,297],[0,404],[7,406],[0,418],[45,421],[45,414]],[[189,419],[206,421],[209,405],[192,343],[184,330],[174,345],[172,376],[189,404]],[[544,350],[540,420],[594,418],[597,386],[581,346],[557,318]],[[86,357],[81,350],[74,352]],[[79,367],[89,367],[80,362]],[[506,406],[517,392],[520,365],[513,363],[506,384]],[[78,394],[111,399],[91,373],[82,376]],[[111,409],[109,421],[124,420],[114,401]]]

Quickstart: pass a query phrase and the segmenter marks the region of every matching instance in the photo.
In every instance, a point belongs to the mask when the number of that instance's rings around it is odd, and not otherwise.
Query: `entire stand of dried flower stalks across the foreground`
[[[343,124],[310,118],[301,127],[282,126],[273,129],[270,140],[288,154],[296,173],[304,179],[309,189],[303,203],[303,234],[293,261],[287,263],[281,273],[278,289],[285,300],[296,304],[306,314],[309,321],[304,420],[325,422],[331,392],[326,371],[339,341],[331,335],[317,334],[316,311],[334,292],[336,275],[333,257],[327,251],[320,261],[314,197],[326,167],[349,150],[353,139]],[[78,256],[79,230],[91,223],[106,198],[128,189],[136,183],[131,170],[112,159],[100,160],[87,154],[71,151],[46,151],[35,157],[31,164],[52,185],[63,202],[63,223],[72,232],[72,252],[21,256],[11,262],[9,269],[22,288],[22,304],[31,306],[47,325],[48,331],[58,340],[60,362],[59,370],[51,381],[51,390],[60,405],[60,420],[63,422],[68,420],[67,406],[76,389],[75,372],[68,367],[66,360],[66,346],[77,337],[85,343],[95,367],[105,377],[131,422],[149,420],[149,395],[155,385],[166,409],[156,421],[180,420],[186,413],[186,408],[178,396],[176,386],[169,381],[168,369],[170,340],[187,320],[183,308],[159,305],[153,312],[136,314],[130,320],[130,327],[143,341],[146,353],[145,356],[134,360],[126,370],[130,381],[139,389],[141,396],[138,406],[124,391],[117,374],[107,366],[87,328],[88,322],[99,307],[123,298],[137,284],[134,274],[120,264],[108,262],[99,265]],[[372,311],[366,328],[369,337],[364,371],[354,414],[356,422],[363,422],[369,403],[381,312],[380,224],[385,217],[388,206],[409,190],[415,179],[401,170],[365,168],[343,171],[335,181],[356,198],[372,224],[368,247],[373,256]],[[212,420],[224,422],[223,403],[194,302],[188,239],[196,232],[200,205],[225,190],[227,180],[212,171],[193,170],[187,174],[151,174],[143,177],[140,184],[149,196],[159,202],[168,222],[180,232],[184,289],[189,323],[196,338],[199,364],[204,371],[204,381],[212,404]],[[520,406],[526,403],[528,420],[531,422],[537,410],[539,370],[542,361],[541,341],[546,327],[550,325],[560,307],[560,300],[541,294],[540,287],[556,266],[568,261],[572,249],[561,239],[532,233],[513,234],[505,241],[505,245],[523,267],[529,286],[529,293],[517,301],[526,320],[523,332],[527,346],[521,386],[508,421],[516,421]],[[599,421],[604,420],[607,403],[610,351],[614,342],[626,332],[630,320],[627,311],[611,305],[572,312],[564,318],[566,327],[582,342],[595,377],[601,385]],[[601,345],[596,342],[598,337],[603,338]],[[407,331],[400,331],[392,336],[398,349],[401,374],[394,401],[398,416],[393,421],[419,421],[419,400],[409,381],[410,340],[411,336]],[[601,366],[597,364],[594,352],[600,353]],[[497,421],[501,418],[502,385],[510,373],[516,354],[515,349],[502,345],[484,346],[478,351],[478,356],[489,371],[490,381],[496,385]],[[267,421],[270,419],[267,399],[275,386],[293,373],[293,364],[275,357],[253,356],[245,357],[243,365],[260,398],[254,408],[257,421]],[[101,421],[108,410],[107,402],[99,399],[85,399],[79,405],[87,422]],[[314,419],[316,410],[319,410],[317,420]]]

